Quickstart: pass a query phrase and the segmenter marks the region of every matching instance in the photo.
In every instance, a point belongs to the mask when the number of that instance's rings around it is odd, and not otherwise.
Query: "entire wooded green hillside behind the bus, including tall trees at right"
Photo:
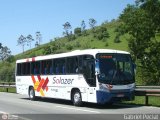
[[[89,19],[90,29],[81,26],[71,31],[71,25],[63,25],[64,37],[38,45],[0,62],[1,80],[11,81],[15,60],[38,55],[56,54],[76,49],[105,48],[129,51],[137,64],[136,83],[160,85],[160,1],[136,0],[128,5],[117,20],[96,26]],[[3,78],[3,79],[2,79]]]

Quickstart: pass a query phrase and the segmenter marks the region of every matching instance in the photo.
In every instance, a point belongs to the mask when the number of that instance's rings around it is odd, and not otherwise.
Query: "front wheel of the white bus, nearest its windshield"
[[[81,106],[82,105],[82,97],[81,97],[81,93],[80,93],[79,90],[75,90],[73,92],[72,101],[73,101],[73,104],[75,106]]]

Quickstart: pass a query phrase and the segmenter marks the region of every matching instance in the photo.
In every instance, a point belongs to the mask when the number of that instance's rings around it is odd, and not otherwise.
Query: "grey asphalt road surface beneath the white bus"
[[[0,120],[2,118],[18,120],[125,120],[132,117],[144,119],[146,117],[144,115],[160,119],[160,108],[124,104],[101,106],[91,103],[75,107],[70,101],[43,98],[30,101],[28,96],[0,92]]]

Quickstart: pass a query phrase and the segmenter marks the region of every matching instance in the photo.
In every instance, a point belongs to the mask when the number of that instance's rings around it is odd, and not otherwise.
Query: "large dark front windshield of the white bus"
[[[98,53],[96,59],[100,83],[112,85],[134,83],[134,68],[129,54]]]

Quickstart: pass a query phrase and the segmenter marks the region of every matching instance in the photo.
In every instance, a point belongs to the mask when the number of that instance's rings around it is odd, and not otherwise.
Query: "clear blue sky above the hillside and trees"
[[[12,55],[22,53],[17,46],[20,35],[40,31],[42,44],[63,36],[63,24],[69,22],[72,30],[84,20],[94,18],[97,25],[117,19],[127,4],[135,0],[0,0],[0,43],[7,46]],[[32,48],[35,42],[32,43]],[[25,50],[30,49],[25,46]]]

